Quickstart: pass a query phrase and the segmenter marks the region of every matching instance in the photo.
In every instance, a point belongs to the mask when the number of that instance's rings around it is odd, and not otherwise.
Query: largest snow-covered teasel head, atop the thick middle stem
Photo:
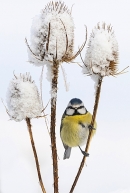
[[[74,23],[71,11],[60,1],[50,2],[33,19],[31,44],[26,40],[29,61],[46,63],[70,62],[73,59]]]

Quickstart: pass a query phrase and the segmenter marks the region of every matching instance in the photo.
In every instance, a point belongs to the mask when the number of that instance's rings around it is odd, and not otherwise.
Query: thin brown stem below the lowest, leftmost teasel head
[[[29,132],[29,136],[30,136],[30,140],[31,140],[31,145],[32,145],[32,149],[33,149],[33,153],[34,153],[34,158],[35,158],[35,163],[36,163],[36,168],[37,168],[37,174],[38,174],[38,178],[39,178],[39,183],[42,189],[43,193],[46,193],[46,190],[44,188],[43,182],[42,182],[42,177],[41,177],[41,172],[40,172],[40,166],[39,166],[39,161],[38,161],[38,156],[37,156],[37,152],[36,152],[36,148],[35,148],[35,143],[34,143],[34,139],[33,139],[33,134],[32,134],[32,129],[31,129],[31,122],[29,118],[26,118],[26,123],[27,123],[27,127],[28,127],[28,132]]]

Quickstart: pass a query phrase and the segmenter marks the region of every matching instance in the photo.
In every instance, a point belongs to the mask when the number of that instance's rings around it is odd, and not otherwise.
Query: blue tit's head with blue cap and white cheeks
[[[70,100],[66,108],[66,115],[68,116],[84,115],[86,113],[87,113],[87,110],[80,99],[73,98]]]

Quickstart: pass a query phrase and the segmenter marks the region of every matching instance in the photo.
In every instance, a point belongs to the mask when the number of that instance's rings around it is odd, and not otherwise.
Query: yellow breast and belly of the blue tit
[[[74,147],[87,141],[89,134],[88,125],[91,123],[92,115],[88,112],[85,115],[65,116],[62,120],[61,139],[64,144]],[[85,127],[82,127],[82,123]],[[96,128],[96,123],[94,125]]]

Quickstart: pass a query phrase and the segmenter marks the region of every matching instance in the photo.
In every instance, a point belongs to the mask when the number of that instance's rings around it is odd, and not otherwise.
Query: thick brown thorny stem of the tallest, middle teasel
[[[53,178],[54,178],[54,193],[58,193],[58,160],[57,160],[57,148],[56,148],[56,135],[55,135],[55,125],[56,125],[56,99],[57,99],[57,83],[58,83],[58,69],[59,63],[54,60],[52,67],[52,93],[55,96],[51,98],[51,149],[52,149],[52,159],[53,159]]]

